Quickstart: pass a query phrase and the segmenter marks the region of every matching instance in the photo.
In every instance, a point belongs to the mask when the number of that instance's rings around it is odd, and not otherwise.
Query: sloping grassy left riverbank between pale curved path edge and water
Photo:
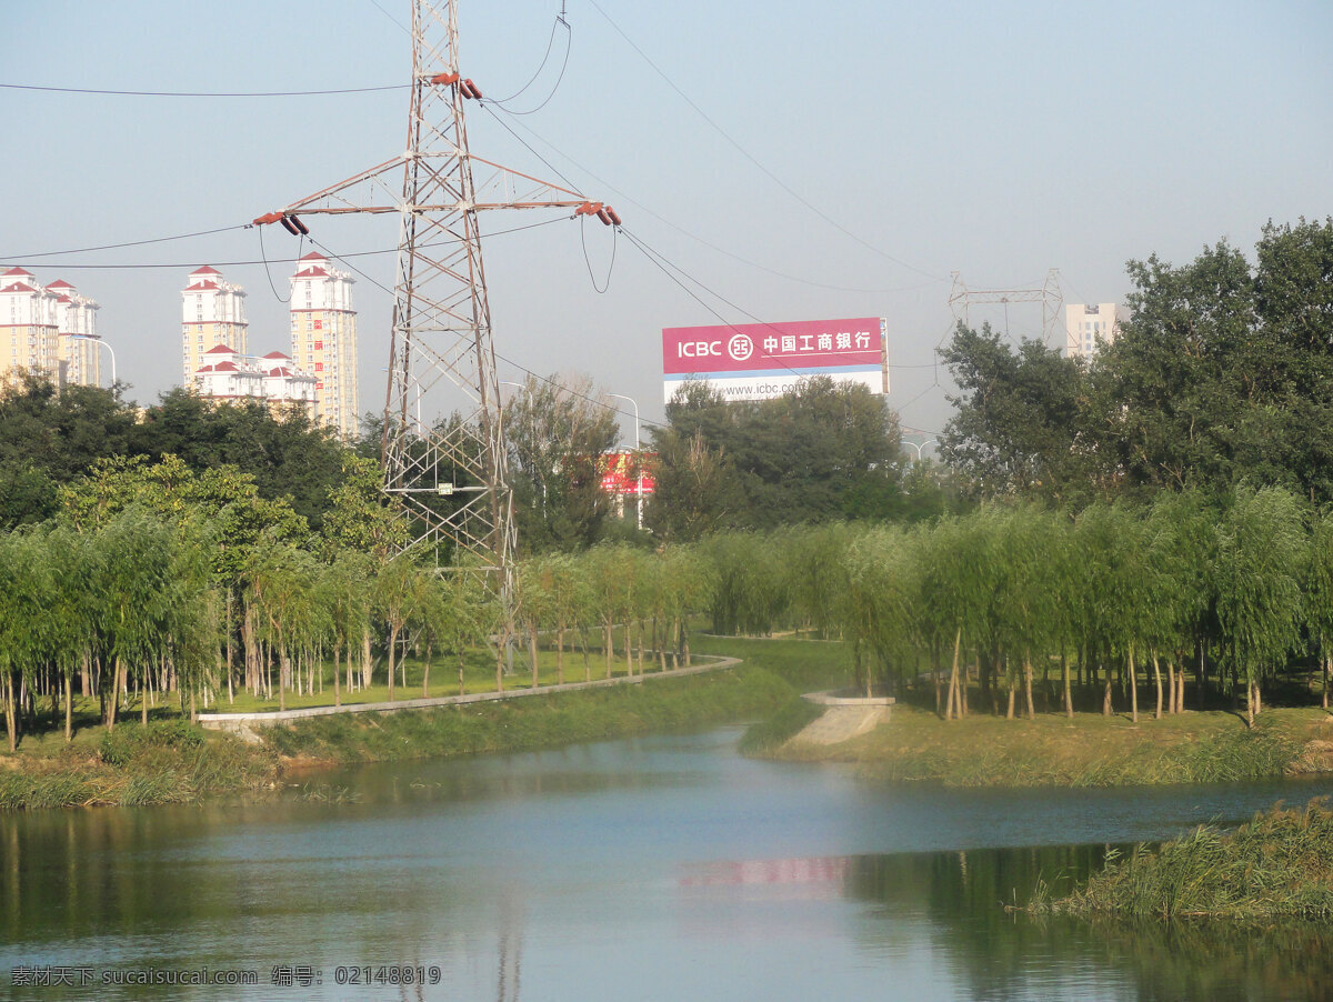
[[[255,795],[309,766],[521,752],[764,718],[796,692],[780,669],[737,665],[511,701],[316,717],[260,729],[252,741],[183,718],[147,730],[123,722],[111,736],[89,728],[72,745],[55,733],[29,736],[19,754],[0,754],[0,810]]]

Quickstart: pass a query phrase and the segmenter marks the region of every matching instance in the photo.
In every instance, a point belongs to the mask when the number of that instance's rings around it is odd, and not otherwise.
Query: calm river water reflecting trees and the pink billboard
[[[1333,985],[1318,929],[1122,930],[1002,907],[1038,878],[1086,875],[1110,845],[1242,821],[1333,781],[948,791],[744,759],[736,737],[303,777],[355,802],[293,790],[0,817],[0,998],[1320,998]],[[115,983],[204,970],[256,983]],[[387,983],[421,977],[437,983]],[[73,985],[15,983],[29,978]]]

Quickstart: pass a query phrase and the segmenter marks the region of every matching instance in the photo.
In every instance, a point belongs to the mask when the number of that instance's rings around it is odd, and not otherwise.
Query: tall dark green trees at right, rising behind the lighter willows
[[[1333,501],[1333,219],[1264,228],[1173,266],[1130,261],[1133,312],[1090,364],[960,328],[941,449],[985,494],[1096,496],[1241,482]]]

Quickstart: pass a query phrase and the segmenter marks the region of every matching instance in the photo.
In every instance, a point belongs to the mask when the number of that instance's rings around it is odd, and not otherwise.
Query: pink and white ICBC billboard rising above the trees
[[[810,376],[888,393],[886,328],[882,317],[665,328],[664,398],[706,380],[725,400],[768,400]]]

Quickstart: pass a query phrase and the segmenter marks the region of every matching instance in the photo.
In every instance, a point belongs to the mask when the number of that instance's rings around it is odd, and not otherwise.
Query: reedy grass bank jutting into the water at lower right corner
[[[1281,806],[1224,833],[1212,826],[1137,849],[1068,898],[1029,910],[1084,917],[1333,918],[1333,810]]]

